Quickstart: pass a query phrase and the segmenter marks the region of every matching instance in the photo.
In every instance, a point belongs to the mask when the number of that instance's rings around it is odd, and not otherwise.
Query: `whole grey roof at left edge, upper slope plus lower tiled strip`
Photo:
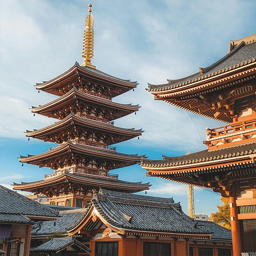
[[[57,219],[58,212],[0,185],[0,221],[33,223],[38,217]],[[28,218],[29,217],[29,218]]]

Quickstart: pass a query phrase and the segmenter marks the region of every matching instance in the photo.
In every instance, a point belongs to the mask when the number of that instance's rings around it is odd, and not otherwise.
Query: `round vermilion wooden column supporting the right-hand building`
[[[231,219],[231,232],[232,232],[232,244],[233,244],[233,256],[241,256],[242,244],[239,220],[237,218],[238,211],[235,204],[235,198],[229,197],[230,207],[230,219]]]

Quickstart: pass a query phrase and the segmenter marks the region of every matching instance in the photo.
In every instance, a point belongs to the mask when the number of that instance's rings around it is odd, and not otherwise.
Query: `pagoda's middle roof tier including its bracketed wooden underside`
[[[87,118],[78,117],[71,113],[68,117],[66,117],[63,120],[55,122],[54,124],[41,128],[39,130],[27,130],[25,134],[27,137],[37,138],[39,140],[49,142],[56,142],[56,139],[53,136],[53,134],[62,133],[64,134],[63,136],[66,136],[66,138],[71,139],[70,136],[72,136],[74,130],[76,130],[77,132],[79,131],[82,134],[83,132],[86,132],[89,129],[93,130],[93,132],[99,131],[100,133],[106,134],[105,136],[112,137],[113,140],[111,144],[135,138],[137,136],[142,135],[143,132],[142,129],[135,130],[134,128],[120,128],[113,126],[112,124],[97,122]],[[76,134],[76,132],[74,133]]]

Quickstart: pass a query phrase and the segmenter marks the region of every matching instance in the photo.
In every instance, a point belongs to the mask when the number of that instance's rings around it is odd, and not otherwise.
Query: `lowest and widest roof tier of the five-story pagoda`
[[[108,177],[99,177],[96,175],[69,173],[65,171],[60,175],[53,175],[51,178],[40,180],[37,182],[21,182],[21,184],[13,183],[14,189],[28,192],[42,192],[44,189],[50,189],[54,186],[61,187],[64,184],[79,184],[83,187],[104,188],[107,190],[123,191],[135,193],[143,190],[148,190],[151,186],[149,183],[142,182],[126,182]],[[68,185],[69,186],[69,185]]]

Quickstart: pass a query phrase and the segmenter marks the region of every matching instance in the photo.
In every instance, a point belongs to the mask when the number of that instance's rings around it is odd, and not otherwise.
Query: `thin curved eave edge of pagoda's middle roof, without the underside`
[[[104,123],[101,122],[91,122],[90,120],[87,120],[85,118],[79,118],[71,114],[65,119],[60,120],[50,126],[46,126],[39,130],[27,131],[25,132],[25,134],[27,137],[39,138],[40,136],[47,136],[50,134],[54,134],[56,132],[60,132],[64,129],[66,130],[68,127],[74,126],[75,124],[84,126],[86,128],[91,128],[94,130],[103,130],[105,132],[111,132],[113,134],[122,134],[124,136],[130,136],[133,138],[142,135],[142,132],[144,132],[142,131],[142,129],[126,129],[111,125],[108,126],[107,124],[104,125]]]

